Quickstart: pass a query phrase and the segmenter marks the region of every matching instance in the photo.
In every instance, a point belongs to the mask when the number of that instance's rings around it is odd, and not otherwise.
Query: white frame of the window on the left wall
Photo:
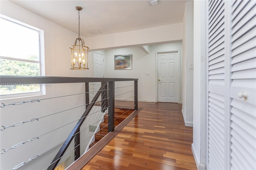
[[[24,22],[20,22],[3,14],[0,14],[0,18],[7,20],[8,22],[12,22],[14,24],[18,24],[20,26],[24,26],[31,30],[35,30],[38,32],[38,40],[39,40],[39,61],[30,60],[30,59],[20,59],[15,57],[6,57],[0,54],[0,59],[12,60],[12,61],[20,61],[20,62],[28,62],[28,63],[38,63],[39,64],[39,76],[45,76],[45,60],[44,60],[44,30],[40,28],[36,28]],[[10,75],[11,76],[11,75]],[[31,97],[36,95],[45,95],[46,89],[44,86],[40,86],[40,91],[38,92],[24,92],[24,93],[14,93],[14,94],[4,94],[0,95],[0,99],[12,99],[18,97]]]

